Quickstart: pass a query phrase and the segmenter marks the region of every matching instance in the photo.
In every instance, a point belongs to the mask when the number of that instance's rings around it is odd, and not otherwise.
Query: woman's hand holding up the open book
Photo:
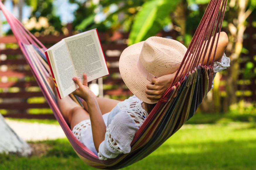
[[[76,96],[81,97],[85,101],[87,101],[89,99],[96,98],[95,94],[88,87],[88,82],[87,82],[86,74],[83,74],[83,84],[76,77],[74,77],[73,80],[78,85],[78,89],[76,89],[73,92],[73,94],[75,94]]]

